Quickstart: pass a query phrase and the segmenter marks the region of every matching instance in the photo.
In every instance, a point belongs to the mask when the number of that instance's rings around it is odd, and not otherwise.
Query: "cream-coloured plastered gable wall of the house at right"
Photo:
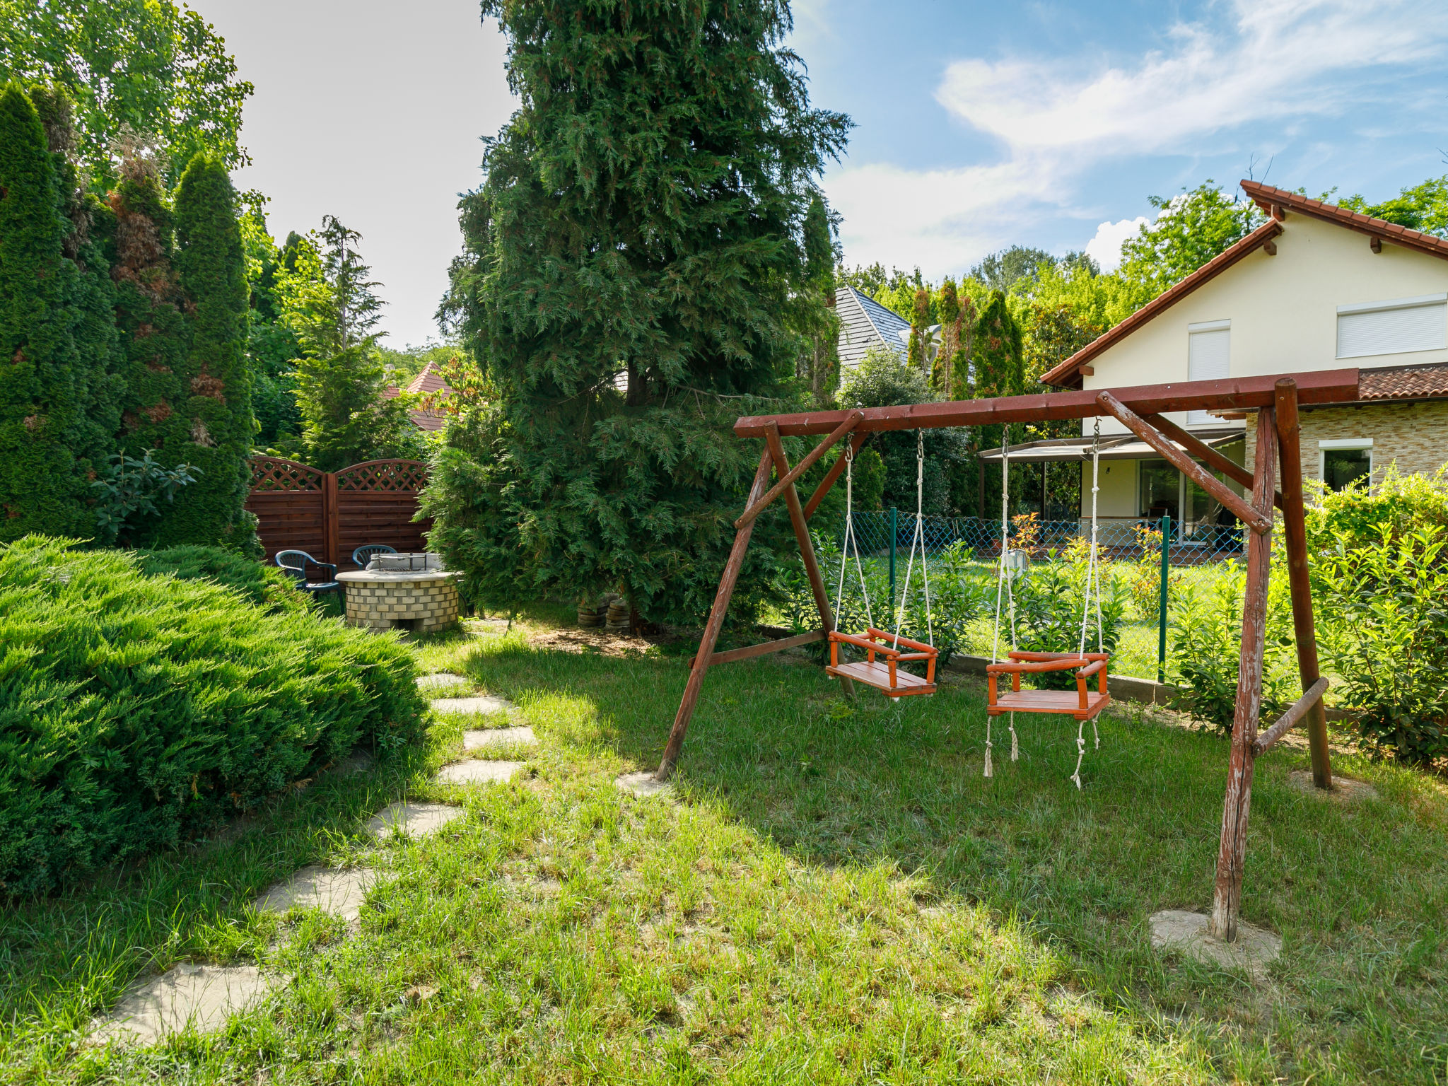
[[[1390,240],[1374,253],[1367,235],[1293,213],[1276,240],[1276,256],[1247,255],[1092,359],[1085,387],[1186,381],[1187,326],[1219,320],[1231,321],[1231,376],[1448,362],[1448,349],[1337,358],[1338,306],[1448,291],[1448,261]],[[1103,418],[1108,430],[1124,427]]]

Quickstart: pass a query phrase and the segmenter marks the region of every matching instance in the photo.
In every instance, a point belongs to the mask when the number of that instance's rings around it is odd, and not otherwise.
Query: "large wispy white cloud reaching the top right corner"
[[[935,171],[869,164],[833,174],[827,187],[844,216],[847,259],[960,271],[1024,240],[1040,217],[1086,217],[1076,181],[1105,161],[1195,153],[1251,122],[1337,113],[1363,94],[1364,78],[1348,72],[1365,77],[1394,65],[1402,74],[1439,56],[1448,41],[1448,6],[1419,0],[1232,0],[1226,10],[1226,29],[1179,23],[1166,49],[1129,65],[1072,72],[1060,59],[951,64],[937,100],[995,136],[1001,159]],[[1108,227],[1121,223],[1102,224],[1092,245],[1106,246]]]

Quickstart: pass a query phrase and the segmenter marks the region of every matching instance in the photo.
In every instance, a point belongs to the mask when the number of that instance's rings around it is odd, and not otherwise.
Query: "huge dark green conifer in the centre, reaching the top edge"
[[[463,201],[446,313],[497,400],[434,472],[433,542],[497,599],[621,585],[696,620],[757,456],[728,427],[782,410],[802,224],[849,120],[809,106],[782,3],[482,10],[520,107]]]

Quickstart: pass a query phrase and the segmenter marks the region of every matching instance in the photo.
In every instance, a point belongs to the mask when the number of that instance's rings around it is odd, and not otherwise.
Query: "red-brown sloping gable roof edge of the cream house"
[[[1218,253],[1184,279],[1158,294],[1114,329],[1093,339],[1058,366],[1047,371],[1041,376],[1041,381],[1061,388],[1080,388],[1082,366],[1089,365],[1093,358],[1100,355],[1109,346],[1121,342],[1138,327],[1182,301],[1182,298],[1195,291],[1197,287],[1215,279],[1244,256],[1266,246],[1273,237],[1283,232],[1281,220],[1289,213],[1305,214],[1325,223],[1342,226],[1350,230],[1358,230],[1370,237],[1400,245],[1406,249],[1416,249],[1418,252],[1448,259],[1448,239],[1438,237],[1431,233],[1422,233],[1419,230],[1409,230],[1406,226],[1397,226],[1396,223],[1373,219],[1371,216],[1360,214],[1357,211],[1348,211],[1344,207],[1325,204],[1321,200],[1312,200],[1310,197],[1299,195],[1297,193],[1289,193],[1284,188],[1273,188],[1271,185],[1263,185],[1255,181],[1242,181],[1241,185],[1242,191],[1247,193],[1247,195],[1257,203],[1258,207],[1267,211],[1271,219],[1242,237],[1237,242],[1237,245]],[[1268,252],[1271,251],[1268,249]]]

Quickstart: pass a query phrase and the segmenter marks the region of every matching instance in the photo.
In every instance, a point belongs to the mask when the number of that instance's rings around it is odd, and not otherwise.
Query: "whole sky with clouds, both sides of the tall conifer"
[[[274,233],[361,230],[394,346],[436,337],[458,193],[513,100],[475,0],[191,0],[256,84],[242,187]],[[799,0],[849,264],[938,279],[1011,243],[1105,264],[1212,177],[1383,198],[1448,174],[1448,3]],[[1105,226],[1103,226],[1105,224]]]

